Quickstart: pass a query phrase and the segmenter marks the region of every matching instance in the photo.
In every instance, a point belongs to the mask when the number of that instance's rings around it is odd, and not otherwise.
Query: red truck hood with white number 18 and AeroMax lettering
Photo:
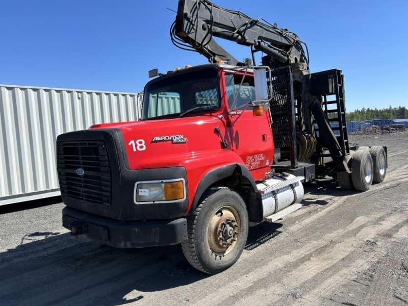
[[[231,137],[223,116],[106,123],[91,129],[119,129],[124,138],[125,160],[130,169],[185,166],[203,157],[214,159],[224,150],[219,128],[231,149]]]

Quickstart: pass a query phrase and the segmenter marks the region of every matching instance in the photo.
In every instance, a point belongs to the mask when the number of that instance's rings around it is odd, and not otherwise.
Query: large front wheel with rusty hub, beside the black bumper
[[[196,269],[219,273],[234,265],[248,236],[248,213],[242,198],[229,188],[207,190],[188,218],[184,256]]]

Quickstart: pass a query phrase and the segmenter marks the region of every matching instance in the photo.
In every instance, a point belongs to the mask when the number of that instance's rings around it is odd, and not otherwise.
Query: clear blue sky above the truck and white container
[[[297,34],[312,72],[343,70],[347,111],[408,107],[408,1],[214,3]],[[171,43],[177,0],[1,0],[0,7],[0,84],[140,92],[152,68],[207,63]],[[239,60],[250,57],[249,48],[219,43]]]

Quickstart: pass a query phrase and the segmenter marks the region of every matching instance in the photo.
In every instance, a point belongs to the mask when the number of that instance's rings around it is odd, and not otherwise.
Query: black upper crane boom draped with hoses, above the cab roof
[[[231,40],[250,46],[266,54],[263,64],[271,68],[304,63],[309,70],[309,60],[303,42],[292,32],[276,25],[252,19],[239,12],[223,9],[208,0],[180,0],[172,29],[173,42],[206,56],[210,62],[238,63],[213,37]]]

